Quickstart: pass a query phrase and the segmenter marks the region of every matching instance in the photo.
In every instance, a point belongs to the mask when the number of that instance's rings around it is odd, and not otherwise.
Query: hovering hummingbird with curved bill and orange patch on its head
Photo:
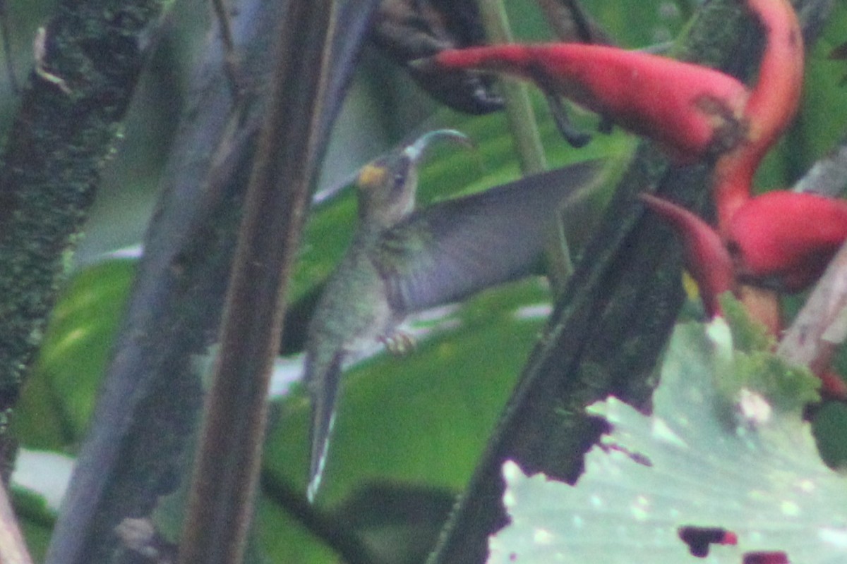
[[[436,139],[469,144],[458,131],[431,131],[357,175],[357,228],[307,329],[309,501],[323,475],[346,357],[376,342],[403,348],[408,337],[397,326],[407,315],[532,274],[559,206],[590,191],[601,168],[583,162],[416,210],[418,163]]]

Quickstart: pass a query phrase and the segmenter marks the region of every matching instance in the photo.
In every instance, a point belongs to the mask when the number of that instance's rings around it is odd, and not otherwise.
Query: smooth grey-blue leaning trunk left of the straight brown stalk
[[[280,5],[238,5],[246,92],[237,107],[218,38],[202,50],[48,564],[135,561],[104,531],[150,516],[189,474],[203,393],[194,359],[208,353],[219,326]]]

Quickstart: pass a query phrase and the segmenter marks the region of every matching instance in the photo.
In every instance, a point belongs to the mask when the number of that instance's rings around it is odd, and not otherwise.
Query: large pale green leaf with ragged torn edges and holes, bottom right
[[[709,546],[716,564],[751,551],[844,561],[847,479],[822,462],[798,409],[813,377],[732,344],[721,318],[678,326],[653,415],[614,397],[589,408],[612,431],[577,485],[528,478],[507,462],[512,524],[491,539],[490,562],[703,561],[679,538],[683,527],[737,536],[737,545]],[[716,379],[734,383],[719,392]]]

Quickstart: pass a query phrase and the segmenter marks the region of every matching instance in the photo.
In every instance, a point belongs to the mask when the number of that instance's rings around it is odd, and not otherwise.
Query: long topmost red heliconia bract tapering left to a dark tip
[[[551,43],[442,51],[444,68],[490,70],[534,80],[635,134],[680,163],[734,132],[747,102],[739,80],[712,68],[617,47]],[[729,133],[734,134],[734,133]]]

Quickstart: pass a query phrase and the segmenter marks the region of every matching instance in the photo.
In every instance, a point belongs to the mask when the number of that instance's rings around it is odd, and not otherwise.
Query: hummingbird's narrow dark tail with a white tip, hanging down
[[[312,355],[307,355],[306,359],[305,383],[309,395],[312,397],[312,429],[310,433],[312,453],[307,488],[309,501],[314,500],[324,476],[329,437],[335,423],[335,403],[337,402],[343,357],[344,351],[339,348],[331,359],[324,359],[327,360],[325,364]]]

